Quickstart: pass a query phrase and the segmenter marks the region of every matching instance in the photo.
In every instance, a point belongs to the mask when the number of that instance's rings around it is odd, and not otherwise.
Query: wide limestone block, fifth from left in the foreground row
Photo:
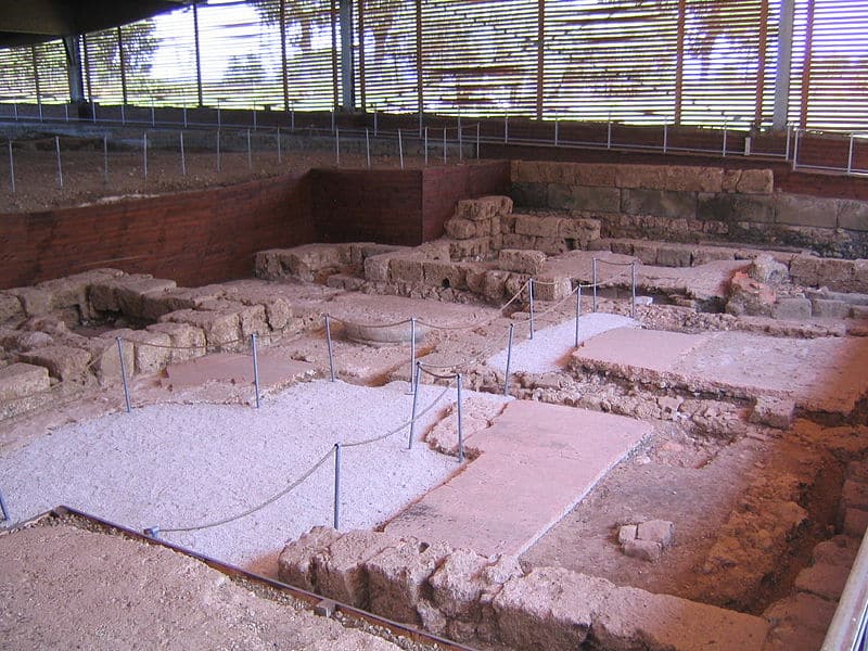
[[[612,587],[561,567],[536,567],[510,579],[493,602],[500,639],[516,649],[578,649]]]

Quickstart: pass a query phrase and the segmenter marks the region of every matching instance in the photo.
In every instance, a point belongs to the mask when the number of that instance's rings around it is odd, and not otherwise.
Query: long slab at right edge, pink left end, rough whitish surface
[[[682,334],[620,328],[577,349],[574,369],[687,391],[775,396],[808,411],[850,413],[868,392],[868,341],[745,332]]]

